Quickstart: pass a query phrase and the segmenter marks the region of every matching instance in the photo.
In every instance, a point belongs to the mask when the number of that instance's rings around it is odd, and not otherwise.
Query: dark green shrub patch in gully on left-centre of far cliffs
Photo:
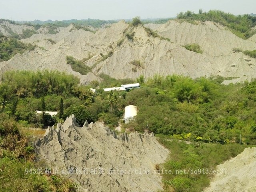
[[[76,71],[82,75],[88,74],[88,72],[92,71],[92,68],[83,64],[82,61],[76,60],[72,56],[66,56],[67,64],[69,64],[73,71]]]

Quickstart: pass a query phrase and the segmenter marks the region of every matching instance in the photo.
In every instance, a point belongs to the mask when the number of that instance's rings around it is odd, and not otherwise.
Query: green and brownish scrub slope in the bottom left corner
[[[35,157],[32,140],[24,133],[22,126],[6,114],[0,114],[1,192],[76,191],[76,184],[67,178],[54,174],[37,174],[38,167],[48,167],[43,162],[35,162]],[[34,170],[26,172],[30,169]]]

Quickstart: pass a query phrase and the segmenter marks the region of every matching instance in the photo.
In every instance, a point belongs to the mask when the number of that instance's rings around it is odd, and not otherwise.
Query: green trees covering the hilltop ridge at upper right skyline
[[[230,13],[225,13],[220,10],[210,10],[208,12],[202,12],[196,14],[191,11],[185,13],[180,12],[177,15],[180,20],[186,20],[188,22],[197,21],[213,21],[226,26],[232,33],[236,34],[238,37],[247,39],[256,33],[256,30],[252,30],[252,27],[256,26],[256,17],[250,16],[248,14],[235,16]]]

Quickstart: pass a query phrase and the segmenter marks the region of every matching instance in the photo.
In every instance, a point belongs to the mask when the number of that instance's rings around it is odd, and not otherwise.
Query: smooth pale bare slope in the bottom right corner
[[[216,174],[204,192],[255,192],[256,191],[256,148],[244,152],[217,166],[224,170]]]

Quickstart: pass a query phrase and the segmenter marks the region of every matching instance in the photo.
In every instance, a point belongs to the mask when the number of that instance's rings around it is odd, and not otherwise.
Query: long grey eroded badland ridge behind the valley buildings
[[[145,27],[156,31],[159,36],[169,38],[170,42],[148,34]],[[100,73],[118,79],[137,78],[141,74],[146,78],[154,74],[182,74],[192,78],[215,75],[234,77],[225,81],[225,84],[256,78],[256,59],[232,51],[233,48],[255,50],[255,36],[243,40],[210,21],[190,24],[170,20],[166,24],[137,27],[120,21],[94,32],[78,30],[73,24],[58,28],[56,34],[47,34],[45,31],[39,29],[38,34],[22,39],[22,42],[37,47],[1,62],[1,73],[14,69],[60,70],[78,76],[82,84],[91,80],[99,81]],[[182,47],[192,43],[199,44],[203,53]],[[107,55],[103,60],[102,56]],[[86,58],[84,64],[92,67],[92,72],[87,75],[74,72],[66,64],[66,56],[78,60]],[[134,60],[140,61],[141,65],[134,66]]]

